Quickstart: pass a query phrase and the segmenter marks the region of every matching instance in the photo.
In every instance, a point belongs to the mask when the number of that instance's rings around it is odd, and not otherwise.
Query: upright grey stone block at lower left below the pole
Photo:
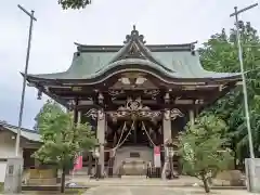
[[[8,158],[4,180],[5,194],[18,194],[22,191],[22,173],[24,159],[21,157]]]

